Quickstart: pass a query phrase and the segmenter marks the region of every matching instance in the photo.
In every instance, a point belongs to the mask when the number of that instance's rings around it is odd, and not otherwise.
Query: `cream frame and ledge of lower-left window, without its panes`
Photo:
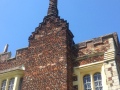
[[[8,70],[0,71],[0,88],[2,86],[2,81],[6,80],[5,90],[9,90],[9,83],[12,78],[14,78],[13,90],[18,90],[20,78],[24,76],[25,67],[15,67]]]

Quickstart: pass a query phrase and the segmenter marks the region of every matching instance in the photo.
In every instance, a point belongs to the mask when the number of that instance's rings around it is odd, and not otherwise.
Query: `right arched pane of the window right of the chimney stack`
[[[103,90],[102,89],[101,73],[94,74],[94,85],[95,85],[95,90]]]

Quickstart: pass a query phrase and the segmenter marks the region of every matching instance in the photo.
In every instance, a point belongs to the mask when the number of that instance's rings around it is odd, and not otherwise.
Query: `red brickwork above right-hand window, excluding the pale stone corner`
[[[85,65],[104,60],[104,53],[110,44],[105,37],[95,38],[74,46],[74,66]],[[77,57],[77,58],[76,58]]]

